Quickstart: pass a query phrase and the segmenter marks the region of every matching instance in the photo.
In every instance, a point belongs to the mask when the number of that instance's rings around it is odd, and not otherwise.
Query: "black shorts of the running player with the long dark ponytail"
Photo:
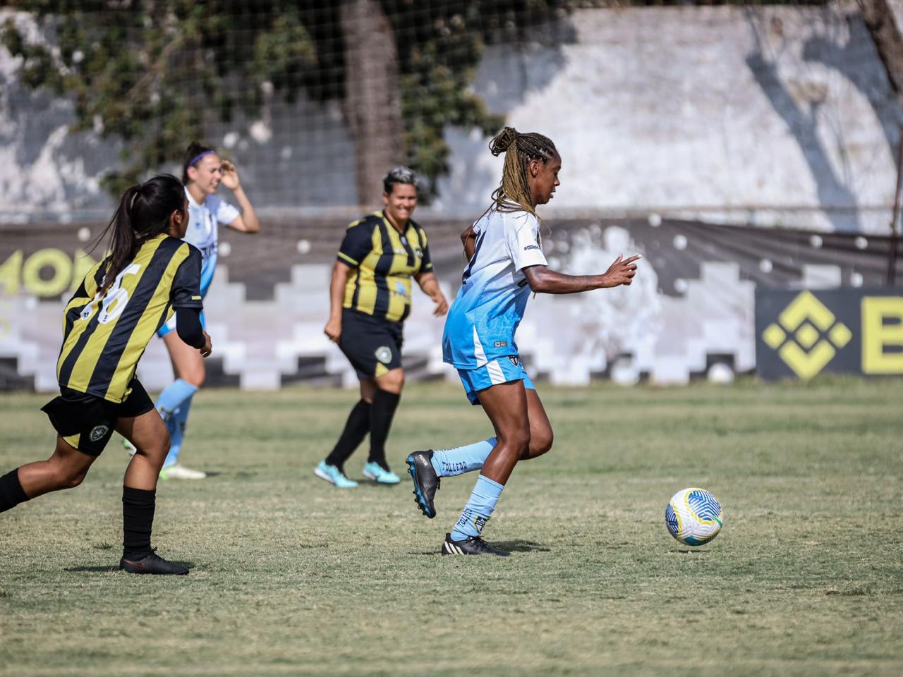
[[[144,385],[133,378],[132,392],[122,403],[107,402],[97,395],[60,388],[60,396],[41,407],[63,440],[89,456],[99,456],[113,436],[119,419],[134,418],[154,409]]]

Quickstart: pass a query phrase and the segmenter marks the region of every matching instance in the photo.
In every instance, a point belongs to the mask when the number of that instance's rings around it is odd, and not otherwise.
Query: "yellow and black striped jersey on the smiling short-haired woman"
[[[395,322],[411,311],[411,276],[433,270],[424,229],[408,219],[399,233],[381,211],[348,227],[339,260],[356,268],[342,306]]]

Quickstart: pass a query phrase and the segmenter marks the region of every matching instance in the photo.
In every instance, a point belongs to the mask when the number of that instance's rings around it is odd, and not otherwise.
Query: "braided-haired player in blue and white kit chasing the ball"
[[[505,153],[505,167],[493,205],[461,235],[469,261],[442,336],[442,354],[458,369],[472,404],[480,404],[495,437],[448,450],[415,451],[407,457],[414,501],[431,519],[440,478],[479,470],[477,484],[451,533],[443,555],[509,553],[481,538],[518,460],[535,459],[552,448],[552,426],[526,375],[514,340],[531,292],[576,293],[629,284],[639,256],[619,256],[600,275],[567,275],[545,261],[535,207],[552,199],[560,184],[562,159],[542,134],[506,127],[489,144]]]

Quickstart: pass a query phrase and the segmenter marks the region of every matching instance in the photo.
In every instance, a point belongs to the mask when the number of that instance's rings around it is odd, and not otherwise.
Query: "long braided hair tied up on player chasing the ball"
[[[505,127],[489,142],[489,151],[498,157],[505,153],[502,180],[492,193],[492,201],[498,211],[526,211],[536,216],[530,197],[530,184],[526,170],[531,160],[551,160],[558,151],[552,139],[543,134],[521,134],[514,127]]]

